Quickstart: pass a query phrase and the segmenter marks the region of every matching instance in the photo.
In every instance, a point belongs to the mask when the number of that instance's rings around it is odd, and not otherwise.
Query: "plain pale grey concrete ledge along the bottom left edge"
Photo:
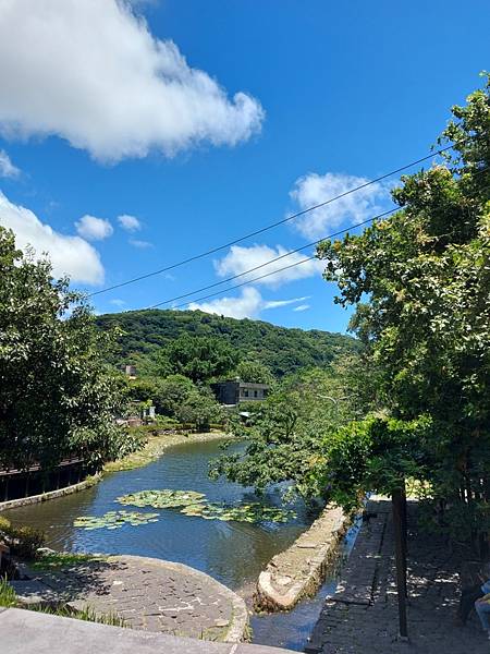
[[[261,645],[212,643],[9,608],[0,611],[2,654],[293,654]]]

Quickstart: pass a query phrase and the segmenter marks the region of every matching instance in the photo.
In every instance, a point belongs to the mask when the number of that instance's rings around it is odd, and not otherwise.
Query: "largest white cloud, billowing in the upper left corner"
[[[58,135],[103,161],[235,145],[264,119],[123,0],[2,0],[0,87],[3,135]]]

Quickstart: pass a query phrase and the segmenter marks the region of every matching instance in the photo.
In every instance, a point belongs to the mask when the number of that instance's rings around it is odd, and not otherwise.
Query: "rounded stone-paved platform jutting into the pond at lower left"
[[[159,559],[110,556],[36,571],[12,585],[25,604],[54,596],[72,608],[118,616],[133,629],[174,635],[238,642],[248,622],[235,593],[204,572]]]

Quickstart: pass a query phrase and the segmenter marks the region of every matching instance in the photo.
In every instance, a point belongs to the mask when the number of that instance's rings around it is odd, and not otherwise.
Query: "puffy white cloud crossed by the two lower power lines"
[[[267,264],[267,262],[282,256],[283,258],[264,266],[254,272],[249,272],[244,275],[244,280],[254,280],[257,277],[261,277],[262,275],[269,275],[269,272],[273,272],[278,270],[275,275],[270,275],[265,279],[259,279],[255,283],[269,286],[271,288],[278,288],[279,286],[286,283],[289,281],[294,281],[295,279],[304,279],[306,277],[313,277],[314,275],[321,275],[324,268],[324,264],[317,259],[310,259],[305,262],[304,264],[298,264],[306,259],[309,253],[301,253],[295,252],[289,256],[284,256],[287,254],[289,250],[283,247],[282,245],[277,245],[274,247],[269,247],[269,245],[252,245],[250,247],[242,247],[241,245],[232,245],[230,247],[229,253],[219,262],[215,262],[215,268],[217,274],[220,277],[233,277],[234,275],[241,275],[245,272],[245,270],[249,270],[252,268],[256,268],[257,266],[261,266]],[[284,268],[285,266],[292,266],[293,264],[298,264],[294,267],[287,268],[286,270],[280,270],[280,268]]]

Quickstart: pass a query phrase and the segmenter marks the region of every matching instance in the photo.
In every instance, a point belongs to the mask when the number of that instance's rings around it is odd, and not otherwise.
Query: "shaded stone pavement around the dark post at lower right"
[[[306,652],[310,654],[479,654],[490,652],[475,611],[465,628],[454,618],[461,559],[441,538],[419,533],[409,502],[408,635],[397,637],[394,543],[389,501],[371,501],[377,513],[357,536],[335,595],[328,598]]]

